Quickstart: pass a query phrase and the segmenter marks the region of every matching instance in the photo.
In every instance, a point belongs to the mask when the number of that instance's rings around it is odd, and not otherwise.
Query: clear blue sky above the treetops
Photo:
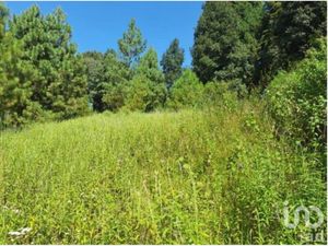
[[[177,37],[185,49],[185,66],[190,66],[194,31],[202,2],[5,2],[11,14],[20,14],[37,3],[47,14],[61,7],[72,26],[72,39],[79,51],[117,49],[117,40],[134,17],[148,45],[159,59]]]

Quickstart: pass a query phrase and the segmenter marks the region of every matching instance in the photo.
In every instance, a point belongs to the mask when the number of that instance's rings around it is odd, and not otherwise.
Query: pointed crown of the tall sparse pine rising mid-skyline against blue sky
[[[122,38],[118,40],[118,46],[124,62],[129,68],[133,67],[147,47],[147,42],[143,39],[141,31],[137,27],[134,19],[130,21]]]

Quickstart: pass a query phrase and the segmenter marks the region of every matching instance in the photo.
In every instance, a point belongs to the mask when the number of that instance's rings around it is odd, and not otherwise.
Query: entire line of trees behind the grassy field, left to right
[[[196,106],[222,86],[242,97],[295,67],[326,26],[326,2],[206,2],[186,69],[178,39],[159,61],[136,20],[118,50],[79,54],[61,9],[11,17],[0,3],[0,126]]]

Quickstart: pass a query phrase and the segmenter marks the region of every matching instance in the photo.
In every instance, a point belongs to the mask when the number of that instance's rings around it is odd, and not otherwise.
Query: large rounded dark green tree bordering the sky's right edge
[[[261,15],[260,2],[204,3],[191,50],[194,70],[202,82],[251,83]]]

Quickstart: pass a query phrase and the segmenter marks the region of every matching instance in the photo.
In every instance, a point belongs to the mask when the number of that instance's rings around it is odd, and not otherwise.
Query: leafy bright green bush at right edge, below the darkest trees
[[[306,58],[280,72],[267,90],[277,131],[311,149],[326,145],[326,39],[317,39]]]

